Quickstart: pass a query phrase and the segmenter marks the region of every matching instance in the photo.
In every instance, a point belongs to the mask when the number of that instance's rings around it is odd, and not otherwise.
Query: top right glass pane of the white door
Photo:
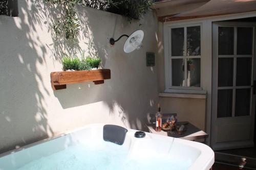
[[[238,27],[238,55],[252,54],[252,28]]]

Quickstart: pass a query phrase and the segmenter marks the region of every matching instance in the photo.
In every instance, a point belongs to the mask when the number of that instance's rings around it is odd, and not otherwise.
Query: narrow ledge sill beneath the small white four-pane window
[[[160,97],[167,97],[167,98],[206,99],[206,94],[193,94],[193,93],[163,92],[163,93],[159,93],[159,96]]]

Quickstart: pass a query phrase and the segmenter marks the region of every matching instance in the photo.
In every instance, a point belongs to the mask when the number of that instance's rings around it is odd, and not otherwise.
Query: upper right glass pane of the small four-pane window
[[[200,26],[187,27],[187,56],[201,55]]]

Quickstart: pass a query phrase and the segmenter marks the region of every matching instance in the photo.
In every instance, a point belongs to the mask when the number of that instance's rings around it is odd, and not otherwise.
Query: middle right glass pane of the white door
[[[251,85],[251,58],[237,58],[237,86]]]

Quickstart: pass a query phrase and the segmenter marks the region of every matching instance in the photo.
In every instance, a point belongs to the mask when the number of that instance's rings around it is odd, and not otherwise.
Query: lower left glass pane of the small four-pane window
[[[184,59],[172,59],[172,86],[184,86]]]

